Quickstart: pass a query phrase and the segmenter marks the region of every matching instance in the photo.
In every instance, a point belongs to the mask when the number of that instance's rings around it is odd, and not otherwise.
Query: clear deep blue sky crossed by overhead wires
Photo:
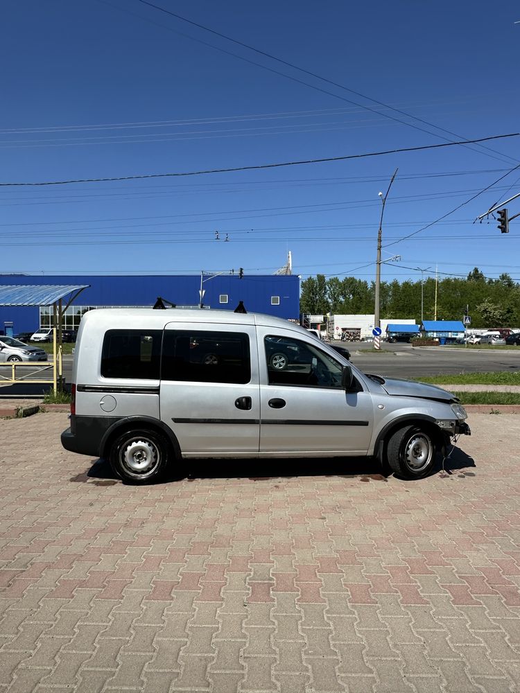
[[[510,0],[154,3],[363,96],[139,0],[4,0],[0,182],[254,166],[520,130],[520,10]],[[378,193],[398,168],[383,258],[401,259],[383,265],[383,279],[419,279],[410,267],[437,265],[520,281],[520,218],[508,235],[496,220],[472,223],[520,192],[520,169],[399,240],[520,163],[519,137],[485,146],[2,187],[0,272],[270,274],[291,250],[302,277],[370,281]],[[520,198],[509,205],[517,212]]]

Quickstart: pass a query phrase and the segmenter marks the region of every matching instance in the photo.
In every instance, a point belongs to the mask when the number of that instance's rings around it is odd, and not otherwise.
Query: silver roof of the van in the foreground
[[[162,328],[168,322],[221,323],[236,325],[263,325],[267,327],[297,328],[307,332],[297,323],[289,322],[280,317],[263,315],[262,313],[233,313],[231,310],[204,310],[200,308],[96,308],[83,315],[84,321],[94,320],[105,326],[128,326],[129,320],[136,320],[139,325],[151,329]]]

